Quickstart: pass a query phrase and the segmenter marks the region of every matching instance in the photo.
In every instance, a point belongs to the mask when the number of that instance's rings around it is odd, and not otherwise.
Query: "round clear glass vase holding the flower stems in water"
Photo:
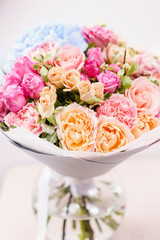
[[[47,203],[47,240],[107,240],[125,212],[125,194],[115,174],[78,180],[52,172]],[[58,180],[57,180],[58,179]],[[38,186],[33,194],[38,213]]]

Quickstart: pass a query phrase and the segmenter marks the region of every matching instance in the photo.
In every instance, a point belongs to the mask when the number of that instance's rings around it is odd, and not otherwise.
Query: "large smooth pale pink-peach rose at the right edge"
[[[136,104],[138,114],[155,116],[160,109],[160,91],[146,77],[135,79],[125,95]]]

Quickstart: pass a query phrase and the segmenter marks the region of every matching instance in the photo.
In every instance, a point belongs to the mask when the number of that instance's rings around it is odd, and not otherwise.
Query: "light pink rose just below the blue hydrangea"
[[[54,61],[55,66],[62,67],[66,71],[72,69],[81,70],[83,60],[85,59],[85,55],[81,49],[72,45],[65,45],[61,50],[58,56],[60,60]]]

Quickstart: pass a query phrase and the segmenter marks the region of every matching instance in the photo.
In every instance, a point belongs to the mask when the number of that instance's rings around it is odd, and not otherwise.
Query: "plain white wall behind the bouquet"
[[[133,44],[160,48],[160,1],[143,0],[0,0],[0,49],[8,51],[14,37],[46,20],[94,24],[103,20]],[[158,150],[142,153],[154,158]],[[15,162],[33,161],[0,135],[0,176]]]

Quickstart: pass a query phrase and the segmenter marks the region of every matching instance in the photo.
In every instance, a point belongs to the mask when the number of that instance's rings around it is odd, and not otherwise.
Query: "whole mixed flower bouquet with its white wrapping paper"
[[[63,176],[100,175],[160,139],[160,60],[106,26],[38,26],[18,38],[11,60],[1,129]],[[81,221],[82,240],[93,239],[88,224]]]

